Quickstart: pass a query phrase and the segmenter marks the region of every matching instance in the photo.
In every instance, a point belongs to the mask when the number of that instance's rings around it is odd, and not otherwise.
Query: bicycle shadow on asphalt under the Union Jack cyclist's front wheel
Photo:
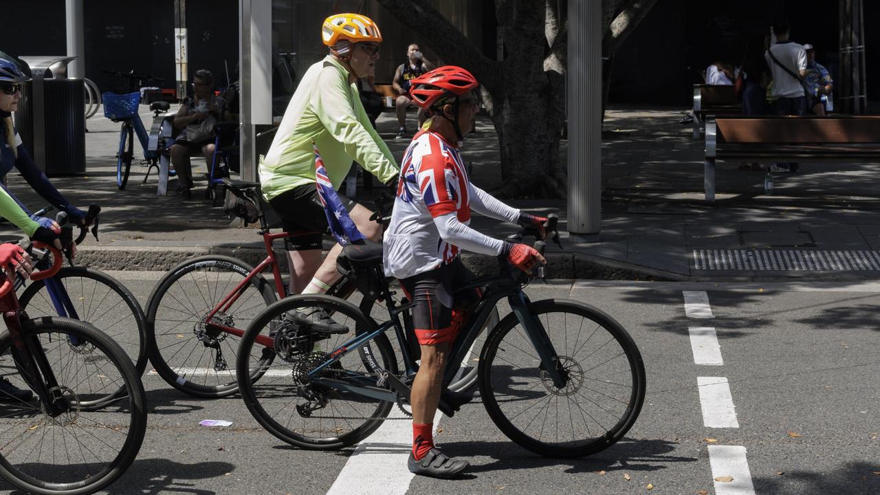
[[[504,440],[443,442],[444,452],[451,456],[491,457],[495,462],[472,465],[468,473],[477,474],[488,471],[512,469],[534,469],[547,466],[568,465],[569,474],[594,471],[656,471],[665,469],[671,462],[696,462],[696,457],[683,457],[670,454],[678,443],[668,440],[620,440],[604,451],[581,459],[557,459],[532,454],[522,447]]]

